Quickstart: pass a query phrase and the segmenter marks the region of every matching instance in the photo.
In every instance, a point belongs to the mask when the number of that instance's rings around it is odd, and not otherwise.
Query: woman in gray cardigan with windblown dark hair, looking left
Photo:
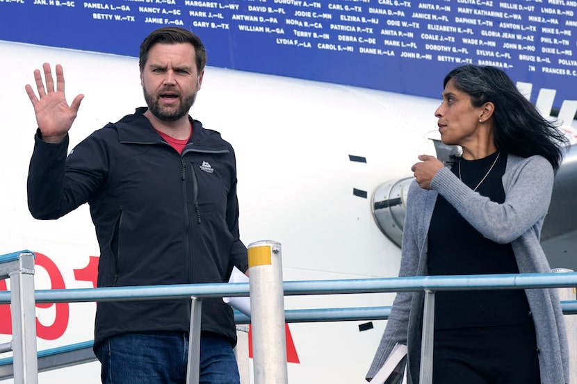
[[[494,67],[453,69],[435,116],[462,157],[412,167],[399,275],[551,272],[539,233],[567,139]],[[435,304],[434,384],[569,383],[554,289],[437,292]],[[423,292],[399,292],[369,381],[401,343],[419,383],[422,318]]]

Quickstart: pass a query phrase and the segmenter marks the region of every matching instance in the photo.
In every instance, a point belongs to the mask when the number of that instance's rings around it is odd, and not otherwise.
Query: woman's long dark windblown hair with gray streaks
[[[551,162],[555,172],[559,169],[569,140],[555,123],[542,117],[503,70],[463,65],[447,74],[443,87],[450,79],[471,96],[473,106],[494,103],[494,137],[499,151],[523,158],[540,155]]]

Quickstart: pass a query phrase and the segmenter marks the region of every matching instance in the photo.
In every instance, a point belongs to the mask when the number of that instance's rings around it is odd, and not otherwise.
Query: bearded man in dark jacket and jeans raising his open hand
[[[236,160],[216,131],[188,116],[202,85],[206,51],[181,28],[160,28],[140,45],[147,108],[95,131],[66,156],[83,94],[67,105],[64,75],[35,70],[38,131],[29,210],[57,219],[90,205],[100,246],[98,286],[222,283],[247,270],[238,233]],[[190,300],[101,302],[95,353],[102,383],[186,383]],[[204,299],[200,382],[239,383],[231,308]]]

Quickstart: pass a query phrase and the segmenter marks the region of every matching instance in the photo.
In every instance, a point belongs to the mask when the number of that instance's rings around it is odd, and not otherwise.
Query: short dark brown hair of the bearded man
[[[157,43],[191,44],[195,49],[197,72],[200,74],[202,69],[204,69],[204,65],[206,64],[206,49],[204,49],[204,44],[202,44],[200,37],[184,28],[168,26],[152,31],[147,37],[145,37],[143,43],[140,44],[140,53],[138,54],[140,72],[143,72],[146,61],[148,60],[148,51],[150,51],[152,46]]]

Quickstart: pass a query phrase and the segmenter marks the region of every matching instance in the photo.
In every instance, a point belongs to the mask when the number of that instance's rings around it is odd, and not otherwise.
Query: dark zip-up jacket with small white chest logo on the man
[[[57,219],[88,202],[100,246],[98,286],[224,283],[245,272],[238,234],[236,160],[216,131],[189,117],[193,135],[182,154],[138,108],[78,144],[35,136],[29,210]],[[98,303],[95,344],[137,331],[188,331],[190,299]],[[236,344],[231,308],[202,300],[202,332]]]

